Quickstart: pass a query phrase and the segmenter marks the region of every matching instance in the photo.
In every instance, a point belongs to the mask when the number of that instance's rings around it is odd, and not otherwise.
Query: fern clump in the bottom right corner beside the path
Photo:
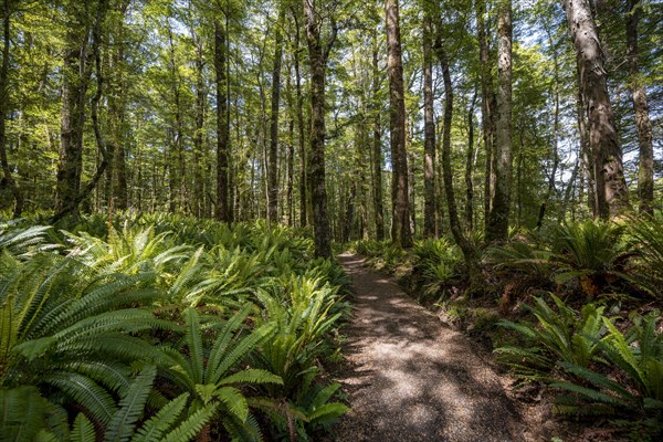
[[[520,337],[495,351],[516,376],[564,391],[555,410],[561,414],[628,417],[613,424],[636,424],[646,434],[663,434],[663,333],[661,313],[606,316],[606,307],[587,304],[581,312],[550,295],[556,308],[538,297],[528,307],[535,324],[501,322]]]

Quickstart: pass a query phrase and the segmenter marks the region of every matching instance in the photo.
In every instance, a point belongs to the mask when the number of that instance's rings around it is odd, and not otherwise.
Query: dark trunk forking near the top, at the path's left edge
[[[303,3],[311,63],[311,160],[308,170],[313,200],[315,254],[329,257],[332,256],[332,239],[325,186],[325,75],[327,59],[338,29],[332,17],[332,36],[326,43],[323,43],[320,27],[324,20],[318,15],[314,0],[303,0]]]

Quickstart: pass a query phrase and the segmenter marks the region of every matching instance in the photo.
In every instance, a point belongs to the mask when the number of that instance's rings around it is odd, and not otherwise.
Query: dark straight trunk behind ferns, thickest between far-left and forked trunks
[[[214,71],[217,73],[217,219],[231,221],[229,148],[230,126],[228,122],[225,30],[214,21]]]

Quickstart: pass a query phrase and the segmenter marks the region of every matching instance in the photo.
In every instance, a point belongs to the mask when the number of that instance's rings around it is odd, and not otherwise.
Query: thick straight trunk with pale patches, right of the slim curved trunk
[[[512,1],[502,0],[497,19],[497,122],[495,125],[495,189],[488,213],[486,240],[505,241],[512,200]]]

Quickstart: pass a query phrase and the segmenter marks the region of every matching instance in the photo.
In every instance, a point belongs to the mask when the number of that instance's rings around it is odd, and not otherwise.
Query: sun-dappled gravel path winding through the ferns
[[[341,255],[356,299],[346,328],[352,411],[339,442],[522,441],[523,424],[499,378],[467,339],[396,284]]]

